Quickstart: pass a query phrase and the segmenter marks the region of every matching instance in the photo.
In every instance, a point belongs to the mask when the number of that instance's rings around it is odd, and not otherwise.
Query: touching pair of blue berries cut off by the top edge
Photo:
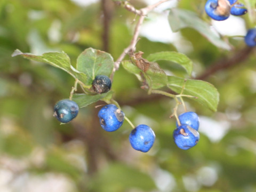
[[[205,12],[214,20],[223,21],[229,15],[244,15],[247,9],[244,4],[237,0],[208,0],[205,4]]]

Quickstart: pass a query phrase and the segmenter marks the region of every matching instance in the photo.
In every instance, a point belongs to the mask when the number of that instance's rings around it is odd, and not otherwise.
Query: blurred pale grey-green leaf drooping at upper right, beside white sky
[[[223,41],[219,35],[214,33],[211,30],[210,25],[200,19],[194,12],[181,9],[171,9],[169,12],[169,24],[173,32],[182,28],[190,27],[201,33],[215,46],[226,50],[231,49],[229,44]]]

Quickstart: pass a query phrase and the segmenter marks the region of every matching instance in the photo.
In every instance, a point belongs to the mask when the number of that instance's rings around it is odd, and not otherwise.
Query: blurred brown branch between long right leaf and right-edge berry
[[[206,79],[207,77],[211,76],[212,74],[216,73],[219,70],[227,69],[227,68],[233,67],[235,65],[238,65],[239,63],[242,63],[243,61],[245,61],[249,57],[249,55],[252,51],[253,51],[253,48],[247,47],[247,46],[244,47],[242,50],[237,50],[231,56],[231,58],[224,58],[224,59],[221,59],[221,60],[213,63],[213,65],[211,65],[211,67],[206,69],[203,74],[199,75],[195,79],[203,80],[203,79]]]

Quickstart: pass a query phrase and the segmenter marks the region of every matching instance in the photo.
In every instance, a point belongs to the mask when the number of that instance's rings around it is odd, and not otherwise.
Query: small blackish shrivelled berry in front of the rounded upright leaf
[[[111,80],[106,75],[97,75],[92,82],[92,89],[96,93],[107,93],[111,88]]]

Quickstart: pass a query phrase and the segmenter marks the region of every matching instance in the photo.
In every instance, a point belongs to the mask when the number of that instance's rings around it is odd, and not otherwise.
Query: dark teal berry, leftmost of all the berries
[[[68,123],[77,116],[78,110],[78,105],[75,101],[63,99],[54,106],[53,116],[61,123]]]

